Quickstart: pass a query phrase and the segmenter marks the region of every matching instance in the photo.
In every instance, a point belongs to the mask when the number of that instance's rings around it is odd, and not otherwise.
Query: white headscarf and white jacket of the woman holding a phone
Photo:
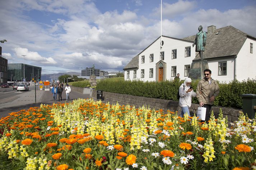
[[[182,83],[179,88],[179,94],[180,94],[179,106],[180,107],[186,107],[186,106],[190,107],[192,97],[196,97],[196,93],[193,90],[188,93],[186,92],[190,88],[190,86],[186,85],[187,82],[191,82],[191,78],[186,78],[184,83]]]

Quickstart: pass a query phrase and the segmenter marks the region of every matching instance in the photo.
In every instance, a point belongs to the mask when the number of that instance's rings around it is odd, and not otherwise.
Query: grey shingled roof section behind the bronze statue
[[[196,35],[192,35],[183,39],[194,41],[195,37]],[[256,39],[233,26],[226,26],[207,33],[204,59],[237,55],[247,37]],[[199,58],[199,55],[196,58]]]

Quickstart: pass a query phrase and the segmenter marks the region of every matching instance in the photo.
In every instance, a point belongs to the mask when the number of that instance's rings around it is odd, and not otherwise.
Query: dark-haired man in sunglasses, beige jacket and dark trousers
[[[205,121],[210,120],[211,106],[214,104],[214,99],[219,94],[219,85],[217,81],[211,78],[211,70],[204,70],[204,78],[200,80],[196,88],[196,97],[199,101],[200,107],[206,107]]]

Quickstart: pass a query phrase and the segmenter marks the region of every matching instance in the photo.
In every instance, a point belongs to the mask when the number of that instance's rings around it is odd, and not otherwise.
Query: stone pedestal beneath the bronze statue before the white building
[[[204,70],[209,68],[207,60],[204,59],[194,59],[192,60],[191,68],[188,77],[191,79],[203,79]]]

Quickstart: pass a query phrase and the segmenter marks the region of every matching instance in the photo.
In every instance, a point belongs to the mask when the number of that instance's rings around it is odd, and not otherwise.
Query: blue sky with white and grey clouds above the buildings
[[[8,63],[42,73],[92,67],[122,71],[160,36],[161,0],[0,0],[0,40]],[[194,35],[199,25],[232,25],[256,37],[255,0],[162,0],[162,34]]]

